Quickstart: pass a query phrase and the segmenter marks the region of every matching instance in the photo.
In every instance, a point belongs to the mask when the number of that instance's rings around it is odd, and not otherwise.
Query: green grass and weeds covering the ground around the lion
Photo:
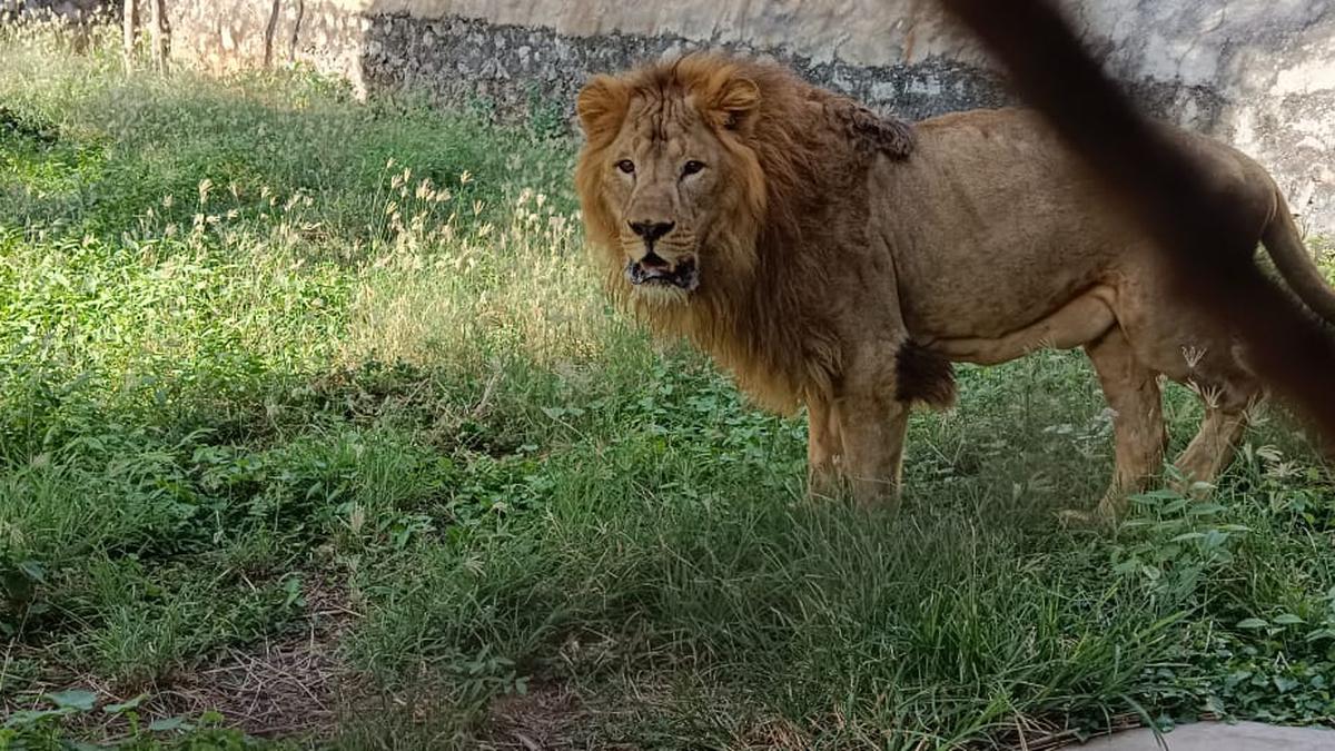
[[[0,746],[1335,716],[1335,490],[1280,417],[1212,502],[1067,531],[1111,426],[1041,353],[913,418],[897,518],[808,504],[801,420],[609,310],[553,128],[0,36]],[[247,664],[307,688],[256,716],[220,678]]]

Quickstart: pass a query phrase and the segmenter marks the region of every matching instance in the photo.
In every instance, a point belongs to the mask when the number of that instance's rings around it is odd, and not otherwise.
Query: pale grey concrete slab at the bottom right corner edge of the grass
[[[1260,723],[1192,723],[1161,736],[1168,751],[1335,751],[1335,730],[1275,727]],[[1096,738],[1080,751],[1156,751],[1164,748],[1149,730]]]

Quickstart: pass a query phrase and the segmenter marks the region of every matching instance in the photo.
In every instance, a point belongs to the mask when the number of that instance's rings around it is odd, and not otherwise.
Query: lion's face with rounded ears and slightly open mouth
[[[676,82],[674,82],[676,83]],[[633,294],[688,302],[736,269],[757,172],[738,126],[756,106],[745,79],[712,88],[633,87],[599,76],[579,95],[589,147],[578,183],[591,239]]]

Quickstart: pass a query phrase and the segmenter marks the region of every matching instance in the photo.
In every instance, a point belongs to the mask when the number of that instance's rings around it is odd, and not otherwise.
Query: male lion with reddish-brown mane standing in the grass
[[[595,76],[577,110],[575,184],[610,293],[761,404],[806,405],[809,493],[842,470],[860,504],[893,502],[909,406],[952,402],[951,362],[1040,346],[1083,346],[1115,410],[1100,517],[1160,469],[1159,374],[1207,402],[1176,461],[1184,477],[1210,481],[1230,461],[1260,384],[1228,331],[1172,299],[1151,241],[1036,115],[910,128],[782,68],[709,55]],[[1266,170],[1168,132],[1335,321]]]

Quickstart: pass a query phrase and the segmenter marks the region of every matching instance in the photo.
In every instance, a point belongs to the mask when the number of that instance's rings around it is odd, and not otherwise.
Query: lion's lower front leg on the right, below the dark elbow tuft
[[[864,509],[893,509],[900,500],[909,405],[878,394],[857,394],[840,400],[836,417],[854,502]]]

